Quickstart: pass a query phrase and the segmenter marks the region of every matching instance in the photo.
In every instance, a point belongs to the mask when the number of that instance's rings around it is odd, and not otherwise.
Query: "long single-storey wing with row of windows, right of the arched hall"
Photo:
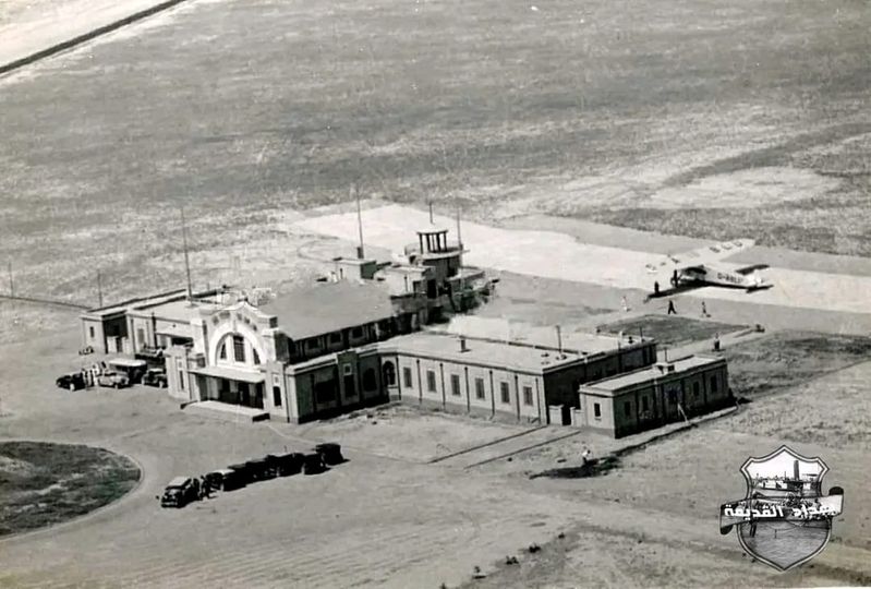
[[[534,337],[535,328],[530,328]],[[649,338],[589,336],[584,350],[424,332],[378,346],[391,399],[523,422],[570,423],[581,383],[649,365]],[[577,346],[576,346],[577,348]]]

